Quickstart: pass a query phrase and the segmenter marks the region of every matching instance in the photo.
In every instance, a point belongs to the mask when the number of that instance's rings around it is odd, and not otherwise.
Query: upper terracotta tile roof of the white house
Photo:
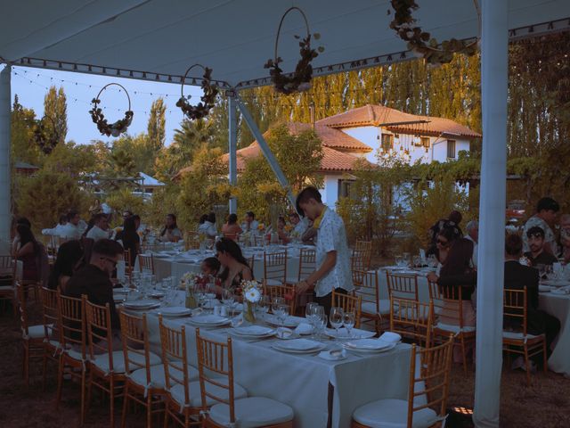
[[[317,122],[317,125],[326,125],[330,128],[354,128],[362,126],[378,127],[382,124],[397,124],[417,120],[426,120],[427,123],[403,123],[401,125],[387,126],[386,128],[402,134],[409,133],[435,136],[448,134],[452,136],[464,136],[468,139],[478,138],[481,136],[475,131],[460,125],[452,119],[419,116],[377,104],[367,104],[357,109],[321,119]]]

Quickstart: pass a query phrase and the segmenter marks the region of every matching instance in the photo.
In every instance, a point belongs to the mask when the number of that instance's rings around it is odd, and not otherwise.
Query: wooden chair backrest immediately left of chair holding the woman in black
[[[429,348],[434,303],[390,296],[390,331]]]

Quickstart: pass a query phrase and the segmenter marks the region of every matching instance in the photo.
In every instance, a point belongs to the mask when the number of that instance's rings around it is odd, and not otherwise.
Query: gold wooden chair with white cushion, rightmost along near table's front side
[[[227,342],[214,342],[200,336],[197,328],[196,348],[201,410],[206,415],[203,426],[293,427],[291,407],[264,397],[240,397],[238,385],[233,381],[232,338],[228,338]],[[211,402],[217,404],[211,405]],[[264,416],[256,408],[263,408]]]

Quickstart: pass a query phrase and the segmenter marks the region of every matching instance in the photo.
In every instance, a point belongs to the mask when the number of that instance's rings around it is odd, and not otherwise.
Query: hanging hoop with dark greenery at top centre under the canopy
[[[297,62],[295,71],[292,74],[284,75],[283,70],[281,70],[281,67],[279,66],[283,60],[281,56],[277,55],[277,48],[279,47],[279,35],[281,33],[283,21],[287,14],[293,10],[297,10],[301,13],[305,20],[306,37],[301,38],[299,36],[295,36],[295,38],[300,39],[299,47],[301,49],[299,50],[299,53],[301,54],[301,59]],[[319,56],[319,52],[324,52],[324,47],[322,46],[319,46],[317,49],[311,48],[311,37],[309,22],[306,19],[305,13],[297,6],[289,7],[287,12],[283,13],[279,23],[279,29],[277,29],[273,59],[270,58],[264,65],[265,69],[270,69],[269,74],[271,75],[273,86],[277,92],[281,92],[281,94],[293,94],[294,92],[303,92],[310,89],[311,79],[313,78],[313,67],[311,66],[311,62]],[[315,40],[318,40],[321,38],[321,35],[319,33],[314,33],[313,37]]]

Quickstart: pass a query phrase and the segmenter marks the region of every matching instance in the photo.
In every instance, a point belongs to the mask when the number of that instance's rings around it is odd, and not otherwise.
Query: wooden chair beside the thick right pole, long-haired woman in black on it
[[[429,283],[429,299],[434,302],[434,337],[444,340],[453,335],[454,342],[460,346],[463,359],[463,372],[467,375],[467,345],[475,346],[475,326],[466,326],[463,320],[462,287],[440,287]],[[457,294],[456,294],[457,293]],[[470,300],[468,301],[471,304]]]

